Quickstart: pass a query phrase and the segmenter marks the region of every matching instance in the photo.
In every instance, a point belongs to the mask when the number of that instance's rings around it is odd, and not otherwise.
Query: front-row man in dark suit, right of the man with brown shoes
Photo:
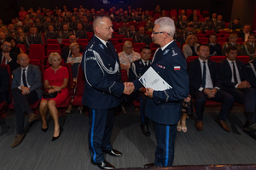
[[[224,86],[224,91],[231,94],[237,103],[244,104],[246,123],[244,131],[256,130],[255,109],[256,90],[250,88],[244,63],[237,60],[237,48],[226,48],[227,59],[219,63],[219,73]]]

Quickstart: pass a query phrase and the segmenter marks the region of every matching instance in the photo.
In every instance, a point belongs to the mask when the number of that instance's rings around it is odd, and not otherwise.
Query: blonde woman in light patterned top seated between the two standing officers
[[[131,63],[137,59],[141,59],[140,54],[133,51],[130,41],[126,41],[123,46],[123,51],[119,53],[121,70],[128,71]]]

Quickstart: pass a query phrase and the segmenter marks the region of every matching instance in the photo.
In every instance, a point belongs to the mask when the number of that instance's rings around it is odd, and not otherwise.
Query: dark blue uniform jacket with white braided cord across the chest
[[[122,101],[124,84],[121,83],[119,56],[112,42],[108,48],[92,37],[84,49],[82,68],[85,84],[82,102],[90,109],[110,109]]]

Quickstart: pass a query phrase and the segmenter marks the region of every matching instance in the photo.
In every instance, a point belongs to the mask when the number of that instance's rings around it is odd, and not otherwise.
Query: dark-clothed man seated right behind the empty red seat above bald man
[[[26,49],[30,48],[31,44],[41,44],[44,45],[44,40],[41,34],[38,34],[38,28],[35,26],[30,27],[30,34],[26,36]]]

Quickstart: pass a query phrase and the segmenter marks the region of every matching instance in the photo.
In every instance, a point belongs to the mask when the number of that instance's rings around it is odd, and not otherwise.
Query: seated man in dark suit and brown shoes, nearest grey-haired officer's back
[[[198,131],[203,128],[203,113],[207,99],[223,103],[215,122],[225,131],[231,132],[225,123],[227,116],[234,104],[232,95],[221,89],[221,80],[218,73],[217,63],[208,59],[210,50],[207,44],[197,48],[198,59],[189,62],[189,89],[191,96],[195,99],[195,112],[197,120],[195,127]]]

